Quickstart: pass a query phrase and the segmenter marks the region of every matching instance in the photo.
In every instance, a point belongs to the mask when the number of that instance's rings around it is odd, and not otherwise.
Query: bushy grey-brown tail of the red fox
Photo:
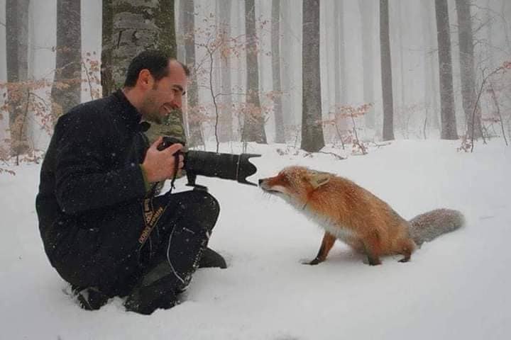
[[[410,237],[417,246],[441,234],[452,232],[465,224],[465,217],[458,210],[436,209],[417,215],[410,220]]]

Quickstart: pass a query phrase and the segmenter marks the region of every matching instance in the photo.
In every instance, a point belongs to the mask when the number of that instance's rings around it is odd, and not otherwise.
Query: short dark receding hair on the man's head
[[[153,78],[157,81],[163,77],[167,77],[169,72],[168,62],[172,59],[173,58],[170,57],[170,55],[157,50],[141,52],[130,62],[128,66],[128,72],[126,72],[126,81],[124,81],[124,86],[135,86],[138,79],[138,74],[140,74],[143,69],[148,69],[151,76],[153,76]],[[188,77],[188,67],[186,67],[185,64],[182,64],[182,62],[179,63],[185,70],[185,74]]]

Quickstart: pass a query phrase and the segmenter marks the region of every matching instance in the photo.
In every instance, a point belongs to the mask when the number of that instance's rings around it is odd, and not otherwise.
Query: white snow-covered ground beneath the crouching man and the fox
[[[403,217],[461,210],[466,227],[424,244],[410,263],[396,256],[368,266],[338,242],[326,262],[304,266],[319,249],[319,227],[259,188],[202,177],[221,204],[210,246],[229,268],[200,269],[181,305],[149,317],[126,312],[120,298],[87,312],[65,293],[36,222],[40,166],[11,167],[16,176],[0,175],[0,338],[509,339],[511,147],[493,140],[470,154],[458,145],[397,141],[346,160],[249,145],[263,154],[253,181],[307,165],[356,181]]]

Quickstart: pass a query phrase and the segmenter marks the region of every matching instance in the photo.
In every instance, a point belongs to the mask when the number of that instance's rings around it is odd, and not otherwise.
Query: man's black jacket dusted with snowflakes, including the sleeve
[[[77,239],[81,229],[100,230],[113,213],[145,196],[139,164],[148,142],[140,120],[117,91],[72,108],[55,125],[35,205],[45,251],[57,271],[77,244],[88,247],[80,256],[94,253],[88,239]]]

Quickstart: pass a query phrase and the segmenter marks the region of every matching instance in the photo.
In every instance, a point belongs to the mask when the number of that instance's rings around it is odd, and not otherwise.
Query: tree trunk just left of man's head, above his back
[[[51,89],[55,122],[60,115],[70,111],[81,101],[81,36],[80,0],[57,0],[55,79]]]

